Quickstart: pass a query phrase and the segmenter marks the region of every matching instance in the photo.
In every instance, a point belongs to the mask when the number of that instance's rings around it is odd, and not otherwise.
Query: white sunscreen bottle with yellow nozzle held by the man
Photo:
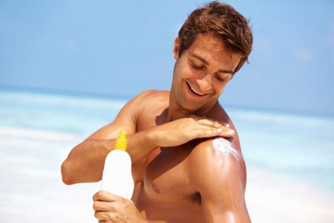
[[[116,139],[115,150],[107,155],[101,190],[131,199],[134,181],[131,172],[131,158],[126,152],[126,144],[125,132],[121,131]]]

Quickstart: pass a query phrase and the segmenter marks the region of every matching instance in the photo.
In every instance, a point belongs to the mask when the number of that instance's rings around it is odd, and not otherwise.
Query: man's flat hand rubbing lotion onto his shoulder
[[[152,139],[162,147],[182,145],[196,138],[233,137],[235,134],[227,123],[196,115],[167,122],[152,128],[151,132]]]

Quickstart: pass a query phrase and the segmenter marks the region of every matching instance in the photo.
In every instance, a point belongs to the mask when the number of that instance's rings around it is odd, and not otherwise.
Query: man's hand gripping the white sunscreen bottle
[[[135,204],[128,199],[100,190],[93,196],[93,209],[98,222],[138,223],[147,222]]]

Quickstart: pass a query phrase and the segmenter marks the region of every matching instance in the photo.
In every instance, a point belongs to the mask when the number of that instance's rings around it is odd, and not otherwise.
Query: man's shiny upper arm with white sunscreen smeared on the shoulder
[[[205,222],[250,223],[244,197],[246,169],[242,155],[230,150],[228,146],[232,144],[227,140],[214,140],[195,147],[190,167],[191,182],[201,194]]]

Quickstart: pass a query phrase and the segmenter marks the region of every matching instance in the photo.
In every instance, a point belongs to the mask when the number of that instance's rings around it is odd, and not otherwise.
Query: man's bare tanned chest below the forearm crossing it
[[[202,222],[200,194],[189,180],[188,154],[181,146],[157,148],[148,156],[136,200],[137,208],[144,211],[148,219]]]

